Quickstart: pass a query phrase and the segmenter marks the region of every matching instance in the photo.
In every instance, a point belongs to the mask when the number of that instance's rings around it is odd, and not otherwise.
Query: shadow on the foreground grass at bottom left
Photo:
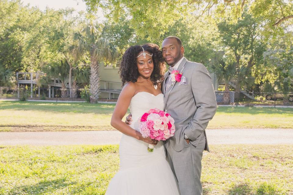
[[[57,189],[65,188],[66,186],[73,185],[75,182],[66,182],[66,178],[55,180],[43,180],[35,185],[18,186],[10,190],[9,195],[14,194],[46,194]]]

